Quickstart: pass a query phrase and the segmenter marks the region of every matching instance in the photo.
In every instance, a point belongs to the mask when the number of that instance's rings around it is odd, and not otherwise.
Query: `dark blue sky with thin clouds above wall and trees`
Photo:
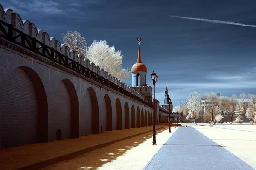
[[[44,3],[45,2],[45,3]],[[256,94],[256,28],[169,17],[204,18],[256,25],[255,0],[2,0],[23,20],[30,20],[62,41],[61,33],[79,31],[90,45],[107,40],[124,55],[123,68],[142,62],[165,84],[174,105],[193,91],[221,95]],[[126,82],[131,85],[131,78]]]

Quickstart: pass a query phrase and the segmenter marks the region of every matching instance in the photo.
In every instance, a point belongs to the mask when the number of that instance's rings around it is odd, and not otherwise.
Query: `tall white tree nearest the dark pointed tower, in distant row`
[[[193,92],[186,100],[189,116],[193,119],[199,118],[198,112],[201,110],[201,99],[197,92]]]

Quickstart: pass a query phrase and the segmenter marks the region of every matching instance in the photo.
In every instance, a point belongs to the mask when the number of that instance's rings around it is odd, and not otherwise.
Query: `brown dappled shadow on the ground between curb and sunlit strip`
[[[163,127],[162,129],[156,130],[156,132],[161,133],[166,129],[168,129],[168,127]],[[149,138],[152,138],[152,132],[93,150],[77,156],[74,159],[62,161],[46,167],[44,170],[96,170],[97,168],[102,167],[104,164],[118,159],[119,156],[124,155],[128,150],[133,147],[137,147],[139,144],[145,142],[145,140]]]

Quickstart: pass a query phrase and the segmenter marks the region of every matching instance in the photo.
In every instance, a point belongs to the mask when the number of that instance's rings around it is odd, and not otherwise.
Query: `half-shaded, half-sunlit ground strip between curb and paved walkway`
[[[169,133],[168,127],[157,130],[157,145],[152,145],[150,132],[54,164],[44,170],[143,170],[176,130],[174,127],[171,128],[172,133]]]

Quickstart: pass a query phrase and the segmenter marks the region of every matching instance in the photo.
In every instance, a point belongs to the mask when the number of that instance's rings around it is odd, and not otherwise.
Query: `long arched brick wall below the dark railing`
[[[70,138],[72,130],[70,119],[73,111],[79,113],[77,118],[79,119],[79,136],[92,133],[93,111],[96,110],[95,113],[99,114],[98,131],[100,133],[101,126],[103,130],[106,130],[105,94],[108,94],[111,100],[113,130],[116,130],[117,126],[116,99],[119,99],[121,103],[123,129],[125,128],[125,102],[128,103],[130,126],[132,105],[134,105],[135,111],[139,106],[139,112],[142,108],[152,112],[152,108],[142,105],[124,94],[83,77],[44,57],[29,53],[25,49],[17,51],[15,50],[17,47],[10,42],[2,42],[0,43],[0,148],[38,142],[37,135],[41,135],[38,133],[38,126],[41,127],[42,124],[42,119],[39,117],[41,114],[46,114],[46,117],[43,116],[46,123],[43,123],[42,126],[44,127],[43,131],[46,131],[44,140],[48,142],[56,140],[58,129],[62,132],[62,139]],[[29,71],[23,71],[19,67],[29,68]],[[30,77],[27,74],[29,72],[33,74]],[[38,76],[38,79],[33,78],[35,75]],[[64,79],[71,85],[65,84]],[[37,84],[40,82],[42,87],[39,89],[40,85]],[[72,86],[74,91],[72,92],[70,90],[72,88],[68,88],[68,86]],[[88,88],[92,93],[88,92]],[[41,99],[41,94],[45,94],[45,100]],[[92,94],[94,94],[93,102]],[[78,101],[71,100],[70,95],[76,96]],[[39,105],[41,103],[45,104]],[[98,104],[98,107],[92,108],[95,103]],[[76,110],[72,109],[73,105],[77,107]],[[22,119],[21,116],[23,116]]]

